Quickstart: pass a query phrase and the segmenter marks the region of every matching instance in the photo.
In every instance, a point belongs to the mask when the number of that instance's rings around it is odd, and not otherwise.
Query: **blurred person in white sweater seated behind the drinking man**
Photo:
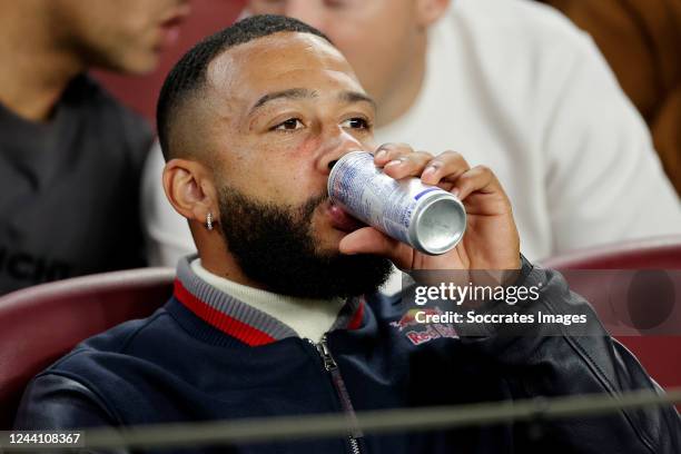
[[[378,102],[377,144],[451,148],[494,166],[529,258],[681,233],[645,124],[591,39],[555,10],[519,0],[251,0],[246,13],[325,32]],[[142,205],[149,259],[174,265],[194,244],[162,193],[162,167],[157,148]]]

